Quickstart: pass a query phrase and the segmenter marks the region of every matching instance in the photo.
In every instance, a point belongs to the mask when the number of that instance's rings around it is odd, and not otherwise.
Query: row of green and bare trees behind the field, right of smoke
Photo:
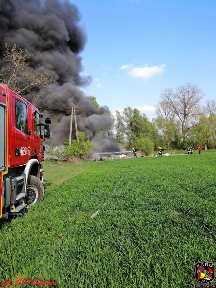
[[[145,154],[159,146],[166,150],[216,148],[216,102],[206,100],[202,107],[203,98],[204,92],[189,82],[175,91],[164,89],[151,121],[137,108],[116,111],[113,141],[126,149],[135,146]]]

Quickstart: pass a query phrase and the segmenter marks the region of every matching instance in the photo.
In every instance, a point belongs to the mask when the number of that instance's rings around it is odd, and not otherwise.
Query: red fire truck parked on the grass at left
[[[50,118],[0,84],[0,218],[18,215],[43,199],[44,140]]]

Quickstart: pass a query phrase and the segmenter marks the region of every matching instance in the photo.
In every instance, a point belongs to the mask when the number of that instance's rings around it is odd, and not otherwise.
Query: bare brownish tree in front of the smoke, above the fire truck
[[[23,97],[30,93],[37,99],[37,91],[54,81],[52,73],[41,71],[39,66],[31,67],[31,55],[19,45],[11,47],[5,43],[3,56],[8,63],[0,69],[0,81]]]

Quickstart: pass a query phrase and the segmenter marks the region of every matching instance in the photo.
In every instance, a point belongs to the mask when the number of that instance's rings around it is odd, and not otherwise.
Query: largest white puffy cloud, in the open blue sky
[[[136,67],[128,71],[128,74],[135,78],[141,78],[141,79],[147,80],[153,75],[160,75],[161,73],[163,73],[164,67],[166,67],[165,64],[162,64],[160,66],[152,66],[152,67],[147,67],[147,66]]]

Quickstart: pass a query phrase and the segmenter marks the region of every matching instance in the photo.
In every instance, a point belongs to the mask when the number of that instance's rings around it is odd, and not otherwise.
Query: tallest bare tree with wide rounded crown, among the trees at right
[[[202,90],[190,82],[177,87],[175,93],[171,89],[165,89],[161,94],[161,102],[168,105],[181,122],[183,142],[187,131],[199,124],[202,114],[199,102],[203,97]]]

